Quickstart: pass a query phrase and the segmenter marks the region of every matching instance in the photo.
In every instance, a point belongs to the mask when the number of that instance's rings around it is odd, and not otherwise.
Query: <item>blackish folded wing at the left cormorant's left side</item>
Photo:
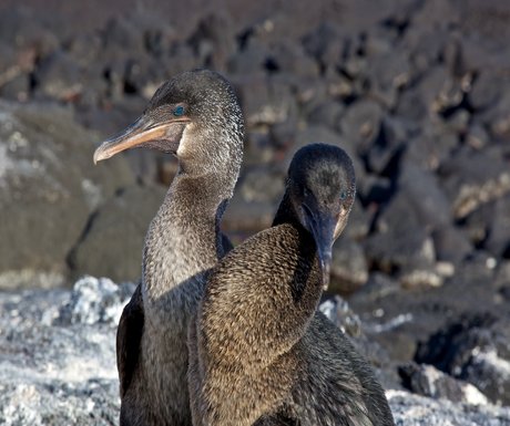
[[[121,398],[130,386],[139,362],[144,318],[142,284],[139,284],[122,311],[116,330],[116,368],[121,382]]]

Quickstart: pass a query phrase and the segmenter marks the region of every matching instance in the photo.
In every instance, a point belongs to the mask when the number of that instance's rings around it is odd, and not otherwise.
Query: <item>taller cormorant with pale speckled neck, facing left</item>
[[[218,225],[243,155],[243,115],[232,86],[211,71],[167,81],[132,126],[98,148],[94,162],[143,146],[174,154],[180,168],[149,228],[142,282],[119,324],[121,425],[187,426],[190,315],[204,271],[225,251]]]

